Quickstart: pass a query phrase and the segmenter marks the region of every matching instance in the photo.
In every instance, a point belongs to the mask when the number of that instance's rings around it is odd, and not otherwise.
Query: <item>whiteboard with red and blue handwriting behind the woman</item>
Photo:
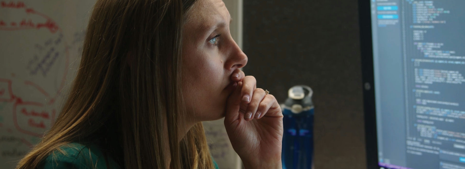
[[[13,169],[60,112],[94,3],[0,0],[0,169]],[[222,120],[204,124],[220,168],[237,168]]]

